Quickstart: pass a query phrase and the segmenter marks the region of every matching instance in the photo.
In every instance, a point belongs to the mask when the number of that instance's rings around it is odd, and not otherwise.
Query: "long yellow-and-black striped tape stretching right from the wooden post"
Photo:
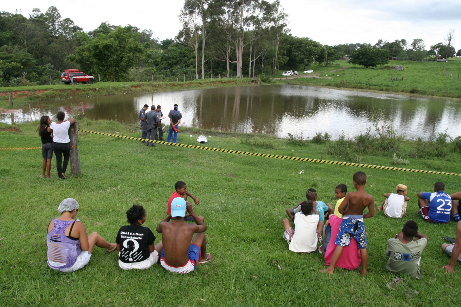
[[[143,142],[157,143],[157,144],[164,144],[164,145],[171,145],[171,146],[178,146],[178,147],[185,147],[185,148],[210,150],[210,151],[217,151],[217,152],[221,152],[221,153],[236,153],[236,154],[244,154],[244,155],[248,155],[248,156],[257,156],[257,157],[266,157],[266,158],[275,158],[275,159],[286,159],[286,160],[313,162],[313,163],[322,163],[322,164],[333,164],[333,165],[346,165],[346,166],[356,166],[356,167],[365,167],[365,168],[375,168],[375,169],[379,169],[379,170],[389,170],[389,171],[409,171],[409,172],[424,173],[424,174],[461,176],[461,174],[449,173],[449,172],[445,172],[445,171],[425,171],[425,170],[415,170],[415,169],[411,169],[411,168],[392,167],[392,166],[383,166],[383,165],[371,165],[371,164],[362,164],[362,163],[330,161],[330,160],[322,160],[322,159],[310,159],[310,158],[280,156],[280,155],[268,154],[268,153],[249,153],[249,152],[246,152],[246,151],[211,148],[211,147],[204,147],[204,146],[199,146],[199,145],[179,144],[179,143],[171,143],[171,142],[165,142],[165,141],[154,141],[154,140],[142,139],[140,137],[120,136],[118,134],[102,133],[102,132],[95,132],[95,131],[88,131],[88,130],[80,130],[79,129],[78,131],[86,132],[86,133],[98,134],[98,135],[101,135],[101,136],[113,136],[113,137],[119,137],[119,138],[122,138],[122,139],[134,140],[134,141],[143,141]]]

